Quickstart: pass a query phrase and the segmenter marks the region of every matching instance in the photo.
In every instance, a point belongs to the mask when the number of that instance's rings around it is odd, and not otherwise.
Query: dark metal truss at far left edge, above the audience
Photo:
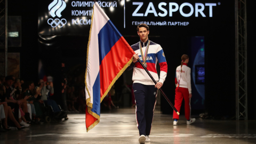
[[[4,71],[0,71],[0,76],[7,76],[7,0],[0,0],[0,49],[5,49],[4,57],[0,57],[4,61]]]

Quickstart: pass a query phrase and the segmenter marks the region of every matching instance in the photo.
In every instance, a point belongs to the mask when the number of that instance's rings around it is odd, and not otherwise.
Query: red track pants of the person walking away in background
[[[180,113],[180,107],[182,100],[185,100],[185,117],[187,120],[190,119],[190,99],[189,99],[189,92],[187,88],[184,87],[176,87],[175,89],[175,105],[174,107],[179,111]],[[179,115],[173,110],[173,119],[179,119]]]

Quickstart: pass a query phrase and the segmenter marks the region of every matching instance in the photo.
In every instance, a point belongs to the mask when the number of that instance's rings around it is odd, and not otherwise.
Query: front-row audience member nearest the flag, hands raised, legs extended
[[[46,82],[43,81],[43,79],[39,79],[39,87],[41,87],[41,100],[44,101],[45,104],[52,106],[53,112],[55,114],[55,116],[59,117],[62,115],[66,115],[66,114],[61,114],[61,110],[59,108],[59,106],[57,105],[57,103],[54,100],[49,99],[48,97],[48,93],[50,92],[50,96],[53,95],[54,93],[54,89],[53,89],[53,83],[50,83],[50,90],[49,88],[46,88]]]

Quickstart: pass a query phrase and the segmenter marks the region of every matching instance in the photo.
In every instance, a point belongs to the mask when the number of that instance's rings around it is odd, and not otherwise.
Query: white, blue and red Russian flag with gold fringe
[[[100,122],[100,103],[131,65],[134,51],[98,3],[94,4],[85,72],[86,129]]]

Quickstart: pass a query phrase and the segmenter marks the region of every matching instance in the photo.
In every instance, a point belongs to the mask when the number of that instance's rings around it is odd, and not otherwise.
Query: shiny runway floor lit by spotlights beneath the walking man
[[[135,109],[115,109],[101,114],[100,123],[88,133],[85,114],[69,114],[68,121],[30,127],[0,134],[0,143],[139,143]],[[184,116],[173,126],[172,115],[155,110],[149,138],[155,143],[256,143],[255,121],[196,119],[187,125]]]

